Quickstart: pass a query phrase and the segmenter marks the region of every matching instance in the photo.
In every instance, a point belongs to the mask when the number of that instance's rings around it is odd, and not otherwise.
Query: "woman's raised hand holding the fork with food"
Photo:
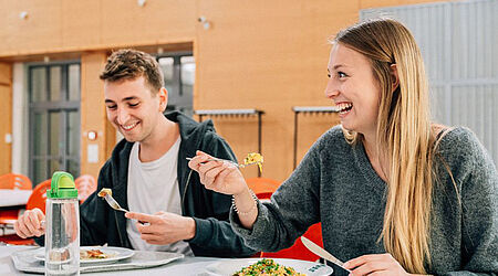
[[[246,180],[237,166],[228,161],[208,161],[212,157],[199,150],[196,153],[188,167],[199,173],[200,182],[207,189],[234,195],[247,191]]]

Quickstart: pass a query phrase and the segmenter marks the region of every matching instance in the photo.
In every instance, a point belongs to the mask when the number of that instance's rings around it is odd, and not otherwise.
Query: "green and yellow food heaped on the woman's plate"
[[[271,275],[282,275],[282,276],[297,275],[297,276],[302,276],[304,274],[295,272],[295,269],[290,266],[279,265],[271,258],[263,258],[250,266],[243,267],[242,269],[234,273],[232,276],[246,276],[246,275],[255,275],[255,276],[256,275],[268,275],[268,276],[271,276]]]

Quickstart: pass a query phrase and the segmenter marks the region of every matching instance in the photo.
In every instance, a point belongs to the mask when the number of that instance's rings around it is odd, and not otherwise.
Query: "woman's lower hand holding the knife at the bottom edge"
[[[344,268],[351,270],[350,275],[412,275],[397,263],[388,253],[363,255],[344,263]]]

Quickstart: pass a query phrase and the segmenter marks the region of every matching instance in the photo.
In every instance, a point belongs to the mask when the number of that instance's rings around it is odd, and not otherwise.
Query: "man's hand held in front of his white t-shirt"
[[[168,212],[157,212],[153,215],[128,212],[127,219],[144,223],[136,223],[141,238],[149,244],[170,244],[183,240],[190,240],[196,234],[196,222],[191,217]]]

